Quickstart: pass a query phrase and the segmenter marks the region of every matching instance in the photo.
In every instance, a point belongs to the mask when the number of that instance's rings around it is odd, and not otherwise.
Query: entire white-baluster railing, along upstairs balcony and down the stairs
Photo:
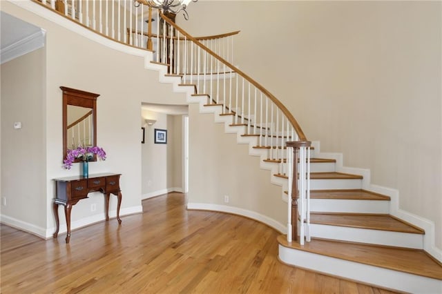
[[[32,1],[115,41],[152,50],[152,62],[167,66],[168,75],[180,77],[183,86],[193,86],[193,96],[206,99],[206,106],[231,116],[231,126],[244,128],[243,136],[256,137],[254,148],[267,150],[266,161],[278,164],[277,175],[289,179],[287,240],[299,234],[301,244],[309,241],[310,142],[291,112],[233,65],[238,32],[195,38],[161,12],[134,6],[133,0]]]

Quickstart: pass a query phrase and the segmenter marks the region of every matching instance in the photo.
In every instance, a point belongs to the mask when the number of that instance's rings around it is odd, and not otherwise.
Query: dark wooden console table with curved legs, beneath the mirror
[[[106,221],[109,220],[109,197],[111,194],[118,197],[117,204],[117,220],[118,224],[122,223],[119,218],[119,207],[122,204],[122,193],[119,189],[119,176],[117,173],[100,173],[89,175],[89,177],[60,177],[54,179],[57,184],[57,197],[54,199],[54,215],[57,223],[57,230],[53,237],[58,236],[59,231],[59,217],[58,206],[64,206],[64,214],[66,216],[66,226],[68,228],[68,235],[66,236],[66,243],[70,240],[70,211],[72,206],[77,204],[81,199],[88,198],[90,192],[101,192],[106,195]]]

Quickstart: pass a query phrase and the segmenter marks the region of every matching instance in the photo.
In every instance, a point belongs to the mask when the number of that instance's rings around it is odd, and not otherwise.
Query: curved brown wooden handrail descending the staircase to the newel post
[[[173,26],[173,28],[175,28],[175,30],[180,31],[180,33],[182,35],[186,36],[186,38],[188,40],[193,41],[193,43],[198,45],[200,48],[206,50],[206,52],[208,52],[210,55],[215,57],[215,59],[218,59],[220,62],[224,63],[226,66],[229,66],[229,68],[234,70],[238,75],[242,76],[244,79],[249,81],[249,83],[253,84],[253,86],[255,86],[256,88],[261,90],[261,92],[263,92],[267,97],[269,97],[269,99],[271,99],[271,101],[273,101],[273,103],[276,104],[276,106],[278,106],[278,108],[282,111],[282,113],[284,113],[285,117],[287,117],[287,119],[290,121],[291,125],[296,130],[296,133],[298,134],[299,140],[300,141],[307,141],[307,137],[305,137],[304,132],[302,132],[302,129],[301,129],[301,127],[298,124],[298,121],[296,121],[294,116],[291,115],[291,112],[289,112],[289,110],[284,106],[284,104],[282,104],[275,96],[273,96],[271,94],[271,92],[269,92],[266,88],[264,88],[263,86],[258,84],[257,81],[255,81],[254,79],[252,79],[251,77],[246,75],[244,72],[242,72],[242,70],[240,70],[239,68],[236,68],[236,66],[233,66],[233,64],[229,63],[229,61],[223,59],[222,57],[217,55],[215,52],[213,52],[212,50],[210,50],[209,48],[204,46],[202,43],[200,43],[200,41],[198,41],[197,39],[195,39],[194,37],[189,35],[186,31],[184,31],[182,28],[180,28],[175,23],[173,23],[173,21],[171,21],[168,17],[166,17],[161,12],[160,12],[160,15],[161,15],[162,19],[164,19],[164,21],[166,21],[166,23],[169,23],[169,25]]]

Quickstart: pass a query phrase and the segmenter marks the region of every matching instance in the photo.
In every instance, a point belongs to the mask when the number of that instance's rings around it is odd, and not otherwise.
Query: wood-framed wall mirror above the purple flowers
[[[65,159],[70,149],[97,145],[99,94],[64,86],[60,89],[63,91],[63,159]]]

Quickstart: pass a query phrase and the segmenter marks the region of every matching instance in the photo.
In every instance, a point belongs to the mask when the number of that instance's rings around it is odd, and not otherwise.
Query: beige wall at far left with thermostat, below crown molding
[[[45,48],[1,65],[2,217],[46,228]],[[26,85],[26,86],[23,86]],[[15,121],[22,128],[15,129]]]

